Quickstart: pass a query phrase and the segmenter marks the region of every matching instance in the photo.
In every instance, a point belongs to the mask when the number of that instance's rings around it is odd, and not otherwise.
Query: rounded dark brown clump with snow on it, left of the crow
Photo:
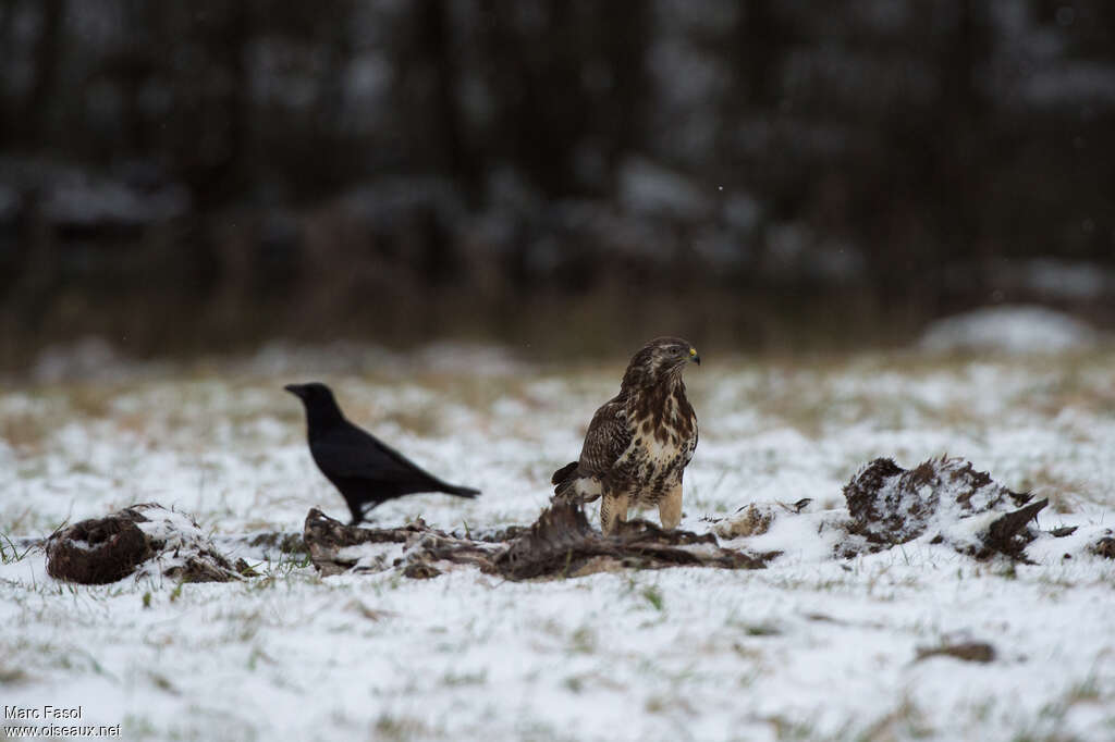
[[[133,574],[187,583],[241,577],[196,523],[155,502],[74,524],[51,534],[45,549],[48,575],[84,585]]]

